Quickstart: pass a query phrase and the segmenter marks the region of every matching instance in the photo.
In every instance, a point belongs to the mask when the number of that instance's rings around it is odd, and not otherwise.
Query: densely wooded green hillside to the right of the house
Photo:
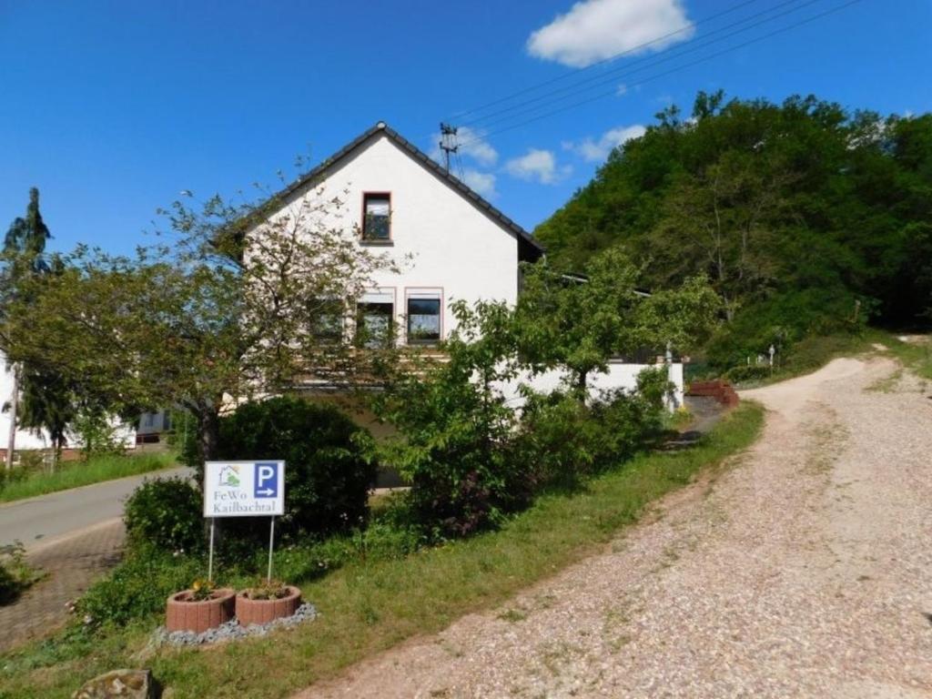
[[[721,366],[866,317],[932,320],[932,115],[700,92],[657,119],[538,226],[551,264],[620,245],[653,288],[705,272]]]

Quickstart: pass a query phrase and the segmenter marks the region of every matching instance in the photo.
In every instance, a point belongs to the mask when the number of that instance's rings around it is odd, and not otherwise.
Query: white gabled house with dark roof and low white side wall
[[[400,271],[377,274],[373,288],[357,300],[356,317],[368,331],[393,323],[402,343],[448,336],[453,301],[514,304],[518,263],[544,253],[528,231],[381,121],[280,197],[281,215],[311,199],[339,199],[348,211],[339,225],[353,231],[360,246],[391,256]],[[612,363],[607,375],[592,377],[593,389],[633,387],[642,368]],[[681,402],[682,365],[669,371]],[[558,378],[554,373],[531,383],[546,390]],[[502,388],[510,400],[520,400],[516,383]]]

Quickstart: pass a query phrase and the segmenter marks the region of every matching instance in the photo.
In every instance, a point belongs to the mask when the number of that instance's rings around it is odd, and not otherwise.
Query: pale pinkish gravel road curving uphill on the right
[[[930,391],[885,359],[747,391],[765,431],[714,480],[299,696],[932,697]]]

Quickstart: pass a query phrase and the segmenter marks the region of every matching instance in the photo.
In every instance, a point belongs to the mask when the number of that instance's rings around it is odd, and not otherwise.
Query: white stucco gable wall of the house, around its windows
[[[449,305],[495,299],[514,304],[518,292],[518,241],[514,234],[473,206],[457,190],[424,168],[388,136],[340,161],[322,182],[287,199],[297,215],[314,201],[339,199],[342,214],[328,224],[354,235],[362,225],[363,194],[391,194],[391,245],[359,244],[387,254],[400,272],[380,271],[373,292],[391,297],[399,336],[404,341],[406,297],[436,294],[444,301],[441,334],[453,327]]]

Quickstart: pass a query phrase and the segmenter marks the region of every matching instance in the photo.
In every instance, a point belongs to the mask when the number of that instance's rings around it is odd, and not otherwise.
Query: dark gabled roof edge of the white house
[[[443,180],[446,185],[453,187],[459,194],[470,201],[477,209],[486,213],[493,221],[498,223],[502,228],[514,234],[518,239],[518,258],[522,260],[535,260],[543,254],[543,247],[534,240],[534,238],[521,226],[518,226],[512,219],[492,206],[486,199],[480,197],[473,189],[459,180],[459,178],[445,171],[433,158],[424,153],[417,145],[412,144],[404,138],[398,131],[391,129],[384,121],[379,121],[374,127],[363,132],[353,141],[346,144],[340,150],[336,151],[330,158],[326,158],[320,165],[302,175],[291,185],[285,187],[279,194],[279,197],[285,197],[292,194],[297,189],[318,180],[322,175],[330,171],[337,163],[344,158],[348,158],[357,150],[367,144],[370,140],[380,135],[386,135],[392,143],[400,147],[408,156],[414,158],[428,171],[431,171],[439,179]]]

